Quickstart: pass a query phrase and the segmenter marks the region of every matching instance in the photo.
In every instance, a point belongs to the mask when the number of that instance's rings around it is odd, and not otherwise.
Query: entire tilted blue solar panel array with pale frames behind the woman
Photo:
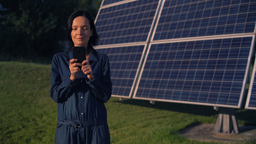
[[[103,0],[95,22],[113,96],[241,107],[256,0]]]

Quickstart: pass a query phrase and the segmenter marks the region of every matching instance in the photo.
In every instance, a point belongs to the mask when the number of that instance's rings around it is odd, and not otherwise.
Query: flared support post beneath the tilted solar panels
[[[219,108],[219,115],[214,127],[218,133],[239,133],[234,108]]]

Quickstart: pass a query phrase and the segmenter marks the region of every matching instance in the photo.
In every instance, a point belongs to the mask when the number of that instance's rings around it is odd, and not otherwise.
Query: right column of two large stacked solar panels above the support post
[[[255,1],[165,0],[133,98],[240,108],[255,21]]]

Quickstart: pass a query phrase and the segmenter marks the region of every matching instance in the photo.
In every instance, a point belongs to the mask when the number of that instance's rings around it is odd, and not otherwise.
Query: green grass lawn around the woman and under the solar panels
[[[54,144],[57,103],[49,89],[50,65],[0,62],[0,144]],[[193,124],[215,123],[213,107],[117,97],[106,107],[111,144],[213,144],[179,135]],[[236,109],[236,117],[239,125],[256,126],[256,110]]]

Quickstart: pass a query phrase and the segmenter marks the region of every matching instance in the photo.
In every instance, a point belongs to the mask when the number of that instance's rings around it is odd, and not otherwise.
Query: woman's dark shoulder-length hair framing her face
[[[98,37],[99,36],[96,32],[96,27],[95,27],[95,24],[94,24],[94,21],[93,21],[93,18],[91,16],[91,14],[89,12],[86,12],[86,11],[73,12],[71,14],[71,16],[69,17],[69,19],[68,19],[68,22],[67,22],[67,39],[68,39],[69,44],[70,44],[69,50],[71,50],[74,47],[74,42],[73,42],[72,37],[71,37],[71,31],[72,31],[73,20],[78,16],[84,16],[89,20],[90,27],[91,27],[91,30],[93,31],[93,34],[92,34],[92,36],[90,37],[90,39],[88,41],[88,48],[86,48],[87,49],[86,52],[94,52],[95,49],[93,47],[98,45]]]

